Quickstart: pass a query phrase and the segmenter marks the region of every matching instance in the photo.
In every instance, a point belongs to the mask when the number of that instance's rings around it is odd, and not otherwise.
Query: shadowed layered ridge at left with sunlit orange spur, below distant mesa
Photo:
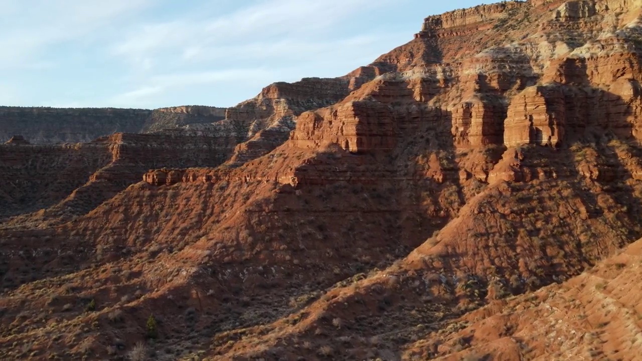
[[[236,144],[235,137],[117,133],[89,143],[0,145],[6,191],[0,217],[42,209],[4,226],[66,220],[91,211],[150,169],[217,166]]]

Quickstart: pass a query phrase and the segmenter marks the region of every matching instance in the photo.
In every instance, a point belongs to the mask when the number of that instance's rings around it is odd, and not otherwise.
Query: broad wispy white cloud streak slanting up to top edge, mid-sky
[[[271,44],[284,49],[284,40],[304,45],[320,33],[331,30],[333,24],[350,16],[359,16],[365,6],[373,8],[392,0],[265,0],[229,14],[197,13],[194,19],[141,24],[126,34],[125,39],[112,44],[110,51],[126,57],[139,67],[150,64],[160,56],[190,62],[218,57],[234,57],[229,49],[250,43],[263,51]],[[244,47],[247,45],[241,45]],[[247,51],[252,50],[252,46]],[[309,46],[308,46],[309,48]],[[247,54],[245,51],[244,54]],[[272,50],[272,52],[277,50]],[[257,53],[260,57],[261,53]],[[282,54],[287,56],[288,54]]]

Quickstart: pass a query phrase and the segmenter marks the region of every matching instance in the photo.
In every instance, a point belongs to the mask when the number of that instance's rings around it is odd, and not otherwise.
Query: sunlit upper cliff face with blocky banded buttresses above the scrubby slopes
[[[416,39],[374,63],[390,64],[387,69],[393,71],[364,84],[334,110],[306,115],[292,139],[301,146],[324,139],[345,149],[374,150],[343,137],[351,132],[344,125],[368,124],[360,142],[368,143],[365,137],[372,134],[377,143],[381,134],[403,133],[404,114],[422,105],[433,109],[429,114],[447,114],[438,121],[451,129],[452,139],[440,141],[456,148],[556,147],[605,135],[639,139],[640,4],[508,2],[428,17]],[[551,13],[556,15],[548,17]],[[546,26],[523,31],[538,16]],[[565,30],[567,23],[572,31]],[[560,37],[564,31],[568,39]],[[471,43],[496,45],[465,46]],[[376,101],[372,114],[359,118],[342,112],[361,100]],[[395,114],[392,125],[379,103]],[[431,116],[410,118],[421,123]],[[377,123],[379,130],[373,128]]]

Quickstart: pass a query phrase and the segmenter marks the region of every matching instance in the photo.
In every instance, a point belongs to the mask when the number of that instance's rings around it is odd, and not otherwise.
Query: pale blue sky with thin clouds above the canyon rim
[[[0,0],[0,105],[230,107],[342,76],[480,0]]]

